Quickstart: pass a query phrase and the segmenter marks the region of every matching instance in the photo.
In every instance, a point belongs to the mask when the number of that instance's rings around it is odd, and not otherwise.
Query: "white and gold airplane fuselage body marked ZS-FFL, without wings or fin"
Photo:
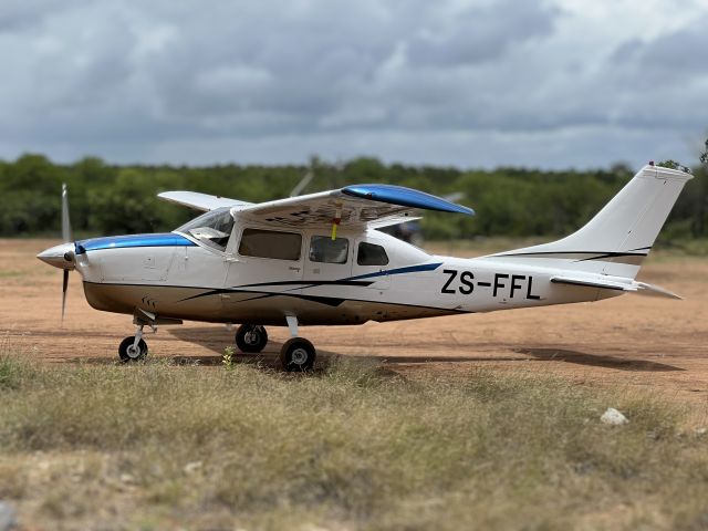
[[[88,303],[108,312],[142,309],[162,317],[207,322],[303,325],[490,312],[594,301],[615,293],[550,282],[558,270],[504,263],[494,257],[431,256],[388,235],[339,235],[350,239],[344,263],[310,260],[312,236],[300,231],[299,260],[239,254],[237,241],[221,252],[186,235],[116,237],[77,242],[76,270]],[[159,239],[162,237],[162,239]],[[231,239],[238,240],[238,230]],[[386,250],[385,266],[360,266],[357,246]],[[124,247],[123,247],[124,246]],[[135,247],[133,247],[135,246]],[[616,293],[621,294],[621,292]]]

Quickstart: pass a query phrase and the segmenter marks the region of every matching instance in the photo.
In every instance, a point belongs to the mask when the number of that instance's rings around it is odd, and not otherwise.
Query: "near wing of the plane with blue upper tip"
[[[354,185],[231,208],[235,217],[275,227],[381,228],[414,219],[414,209],[473,216],[471,208],[394,185]],[[417,219],[417,218],[416,218]]]

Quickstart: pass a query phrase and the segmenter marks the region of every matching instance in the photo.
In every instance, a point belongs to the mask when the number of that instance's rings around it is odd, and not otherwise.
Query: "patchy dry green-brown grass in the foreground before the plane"
[[[0,361],[0,497],[62,529],[702,529],[708,436],[642,395],[366,360]],[[598,420],[607,406],[629,424]]]

